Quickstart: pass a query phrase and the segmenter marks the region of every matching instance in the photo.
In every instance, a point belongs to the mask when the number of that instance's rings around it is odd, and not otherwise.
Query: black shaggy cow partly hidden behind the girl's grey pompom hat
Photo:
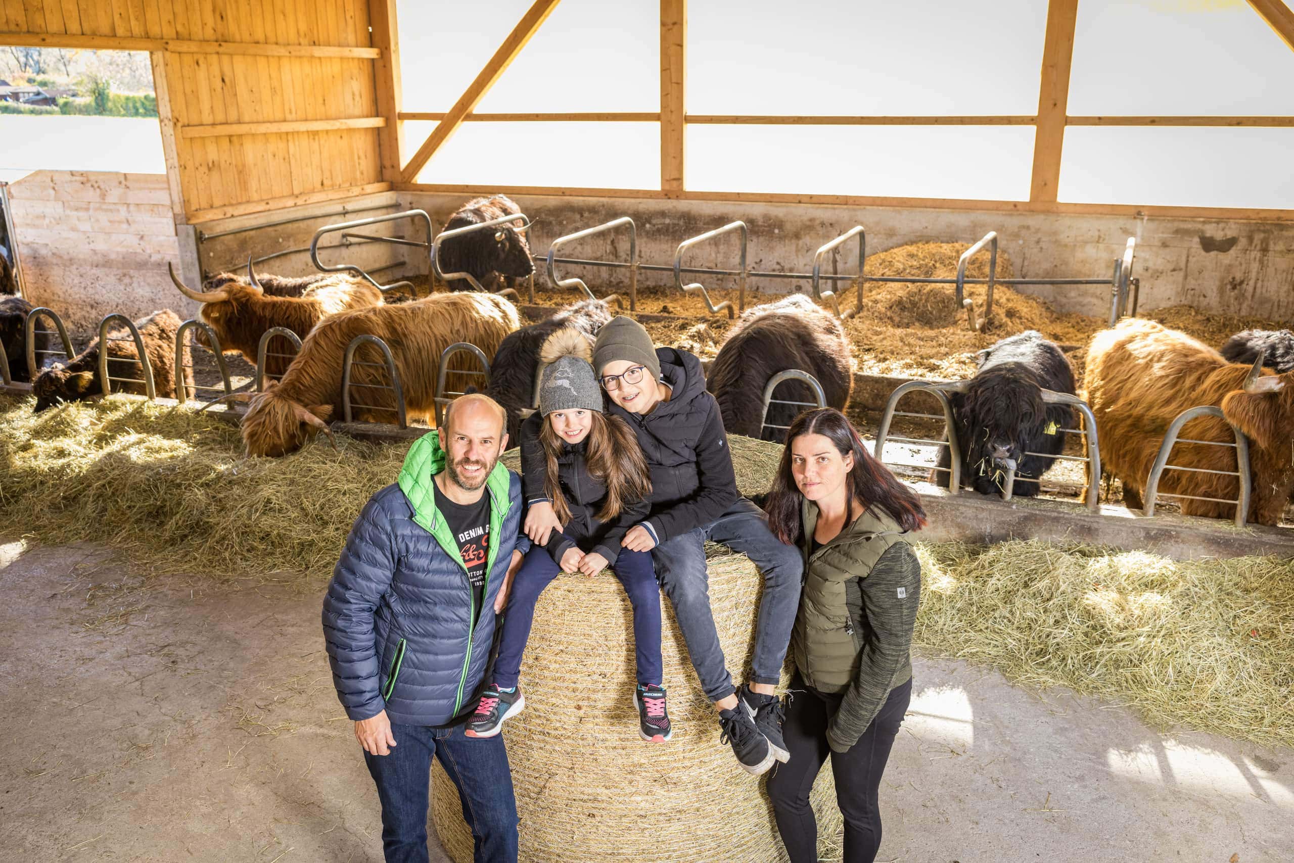
[[[534,406],[534,374],[540,365],[540,348],[554,331],[572,326],[595,336],[611,322],[611,309],[602,300],[580,300],[559,309],[553,317],[510,333],[490,360],[489,386],[485,395],[507,411],[507,445],[521,442],[521,410]]]

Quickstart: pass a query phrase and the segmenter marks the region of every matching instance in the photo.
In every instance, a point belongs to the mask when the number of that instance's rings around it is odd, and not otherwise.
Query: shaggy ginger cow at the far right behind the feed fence
[[[1227,362],[1220,353],[1184,333],[1140,318],[1121,321],[1096,334],[1087,351],[1087,402],[1096,415],[1101,466],[1123,480],[1123,499],[1140,508],[1150,467],[1168,424],[1198,405],[1222,408],[1249,437],[1253,496],[1247,518],[1277,524],[1294,490],[1290,439],[1294,436],[1294,373],[1260,374],[1254,365]],[[1222,419],[1202,417],[1181,437],[1229,442]],[[1178,444],[1172,464],[1233,471],[1229,448]],[[1233,476],[1165,471],[1159,490],[1219,499],[1238,497]],[[1232,518],[1236,505],[1180,499],[1187,515]]]

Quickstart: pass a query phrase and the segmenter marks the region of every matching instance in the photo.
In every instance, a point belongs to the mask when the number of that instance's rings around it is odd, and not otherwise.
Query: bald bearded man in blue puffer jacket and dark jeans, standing
[[[388,863],[428,859],[432,757],[458,787],[476,863],[516,860],[503,737],[463,735],[494,615],[531,547],[520,479],[498,463],[505,419],[492,399],[458,399],[369,499],[324,599],[333,683],[378,785]]]

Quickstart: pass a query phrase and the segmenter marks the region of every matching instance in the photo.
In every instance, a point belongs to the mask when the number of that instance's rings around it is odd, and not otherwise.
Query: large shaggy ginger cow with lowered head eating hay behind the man
[[[520,326],[516,307],[494,294],[436,294],[413,303],[378,305],[342,312],[316,326],[282,382],[254,396],[242,421],[248,455],[285,455],[295,452],[342,410],[342,362],[345,347],[357,335],[375,335],[387,343],[400,373],[409,419],[435,418],[436,370],[441,352],[455,342],[470,342],[493,356],[503,338]],[[377,352],[357,355],[366,362]],[[461,357],[466,361],[465,357]],[[367,365],[352,367],[352,382],[389,386],[386,370]],[[454,387],[454,382],[449,382]],[[457,387],[462,389],[459,383]],[[389,389],[356,391],[355,406],[362,422],[395,422]],[[388,410],[380,410],[386,408]]]

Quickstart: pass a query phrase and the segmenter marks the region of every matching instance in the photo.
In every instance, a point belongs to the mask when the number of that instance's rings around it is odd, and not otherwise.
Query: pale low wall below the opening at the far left
[[[180,250],[164,176],[36,171],[9,185],[9,199],[25,294],[58,312],[74,340],[111,312],[186,316],[167,276]]]

